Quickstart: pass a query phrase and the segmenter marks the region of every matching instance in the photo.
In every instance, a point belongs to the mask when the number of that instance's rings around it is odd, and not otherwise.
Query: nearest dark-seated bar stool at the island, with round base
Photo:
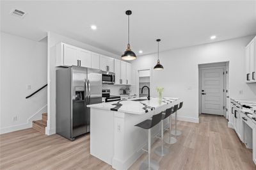
[[[151,151],[151,128],[156,126],[162,119],[162,112],[159,114],[155,114],[152,117],[152,120],[145,120],[141,123],[135,125],[136,127],[148,129],[148,161],[145,161],[141,164],[140,169],[159,169],[159,163],[156,160],[150,159],[150,151]]]

